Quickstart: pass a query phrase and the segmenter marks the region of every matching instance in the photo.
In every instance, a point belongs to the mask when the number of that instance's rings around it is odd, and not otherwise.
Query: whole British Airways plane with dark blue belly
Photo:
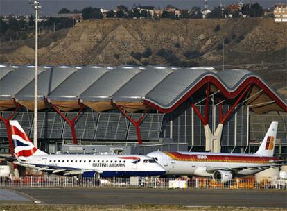
[[[166,171],[144,155],[49,155],[37,149],[18,121],[10,121],[15,157],[13,163],[48,174],[86,177],[158,176]]]

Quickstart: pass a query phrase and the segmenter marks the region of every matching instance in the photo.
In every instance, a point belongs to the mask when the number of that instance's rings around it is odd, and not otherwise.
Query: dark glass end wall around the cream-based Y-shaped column
[[[197,107],[200,113],[205,113],[205,106]],[[229,110],[229,106],[223,105],[223,114]],[[236,117],[237,116],[237,117]],[[214,118],[215,117],[215,118]],[[236,123],[235,123],[236,120]],[[214,133],[219,123],[219,114],[209,106],[209,126]],[[236,124],[236,127],[235,127]],[[187,143],[189,146],[205,148],[205,130],[198,115],[192,108],[186,108],[180,115],[166,115],[164,117],[164,137],[172,138],[174,142]],[[172,128],[172,133],[171,133]],[[192,138],[192,130],[194,138]],[[236,134],[236,135],[235,135]],[[221,146],[247,146],[247,108],[241,107],[236,110],[236,115],[232,115],[223,126]]]

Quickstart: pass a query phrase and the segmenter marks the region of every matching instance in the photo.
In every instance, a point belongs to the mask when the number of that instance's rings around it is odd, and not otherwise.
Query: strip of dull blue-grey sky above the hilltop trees
[[[209,8],[231,3],[238,3],[238,0],[209,0]],[[243,0],[248,3],[250,0]],[[0,0],[0,15],[29,15],[33,13],[33,9],[29,5],[30,0]],[[286,3],[286,0],[251,0],[252,3],[258,2],[263,8],[270,8],[276,3]],[[121,4],[132,8],[134,3],[139,3],[141,6],[155,6],[156,8],[164,8],[166,5],[171,4],[177,8],[190,9],[193,6],[200,6],[203,8],[203,0],[40,0],[42,9],[40,15],[53,15],[58,13],[61,8],[69,10],[78,9],[82,10],[87,6],[96,8],[114,9]]]

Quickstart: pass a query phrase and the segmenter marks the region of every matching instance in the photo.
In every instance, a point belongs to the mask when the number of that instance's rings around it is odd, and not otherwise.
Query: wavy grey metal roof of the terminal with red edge
[[[16,100],[33,110],[33,79],[33,66],[0,65],[0,109],[15,107]],[[260,76],[245,69],[217,72],[212,67],[40,67],[38,99],[40,109],[52,103],[68,111],[79,108],[80,101],[103,111],[113,108],[112,100],[131,111],[148,106],[172,112],[186,100],[204,98],[207,83],[225,103],[232,104],[248,88],[243,100],[254,112],[287,112],[286,101]]]

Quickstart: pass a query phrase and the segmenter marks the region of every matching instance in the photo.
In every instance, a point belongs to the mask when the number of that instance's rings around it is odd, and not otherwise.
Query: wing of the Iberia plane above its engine
[[[241,171],[243,169],[250,169],[250,170],[256,170],[256,169],[268,169],[268,168],[276,168],[281,167],[283,165],[286,165],[285,162],[272,162],[270,164],[258,164],[258,165],[252,165],[252,166],[238,166],[238,167],[207,167],[207,173],[214,173],[214,171],[218,170],[224,170],[224,171],[233,171],[234,173]]]

